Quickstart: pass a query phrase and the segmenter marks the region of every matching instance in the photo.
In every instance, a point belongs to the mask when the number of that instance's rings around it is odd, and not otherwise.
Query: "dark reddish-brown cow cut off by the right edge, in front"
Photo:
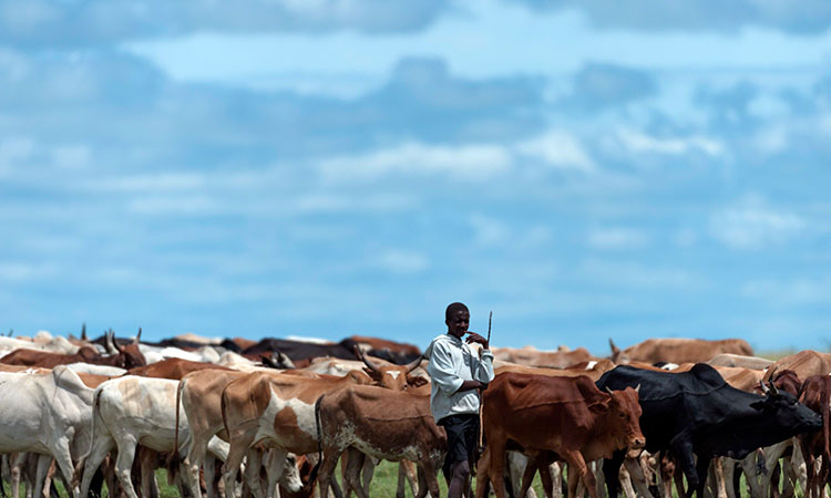
[[[831,377],[828,375],[811,375],[802,384],[799,401],[803,405],[822,415],[822,430],[804,433],[797,436],[802,456],[808,468],[808,486],[806,497],[820,498],[824,496],[825,483],[829,477],[829,461],[831,461],[831,433],[829,432],[829,400],[831,398]],[[814,471],[817,457],[822,457],[819,474]]]

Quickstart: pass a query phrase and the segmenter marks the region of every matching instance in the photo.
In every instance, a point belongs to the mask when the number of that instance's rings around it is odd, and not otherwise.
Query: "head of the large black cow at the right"
[[[762,415],[769,432],[788,432],[792,434],[814,432],[822,428],[822,417],[797,401],[797,396],[780,391],[773,383],[765,385],[759,381],[765,396],[750,404],[750,407]]]

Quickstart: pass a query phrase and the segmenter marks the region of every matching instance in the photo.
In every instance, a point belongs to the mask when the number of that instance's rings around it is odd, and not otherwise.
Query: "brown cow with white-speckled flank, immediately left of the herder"
[[[416,461],[419,475],[417,498],[439,497],[435,473],[447,452],[444,430],[430,413],[430,396],[356,385],[331,391],[316,404],[322,464],[318,479],[322,498],[340,454],[349,447],[387,460]],[[349,458],[346,480],[360,498],[368,494],[359,481],[360,465]],[[346,484],[345,484],[346,486]]]

